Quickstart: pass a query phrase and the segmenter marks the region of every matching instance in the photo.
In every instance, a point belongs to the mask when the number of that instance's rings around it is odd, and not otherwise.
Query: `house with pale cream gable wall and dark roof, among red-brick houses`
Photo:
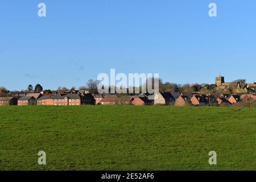
[[[173,105],[174,96],[170,92],[159,92],[155,94],[154,105]]]

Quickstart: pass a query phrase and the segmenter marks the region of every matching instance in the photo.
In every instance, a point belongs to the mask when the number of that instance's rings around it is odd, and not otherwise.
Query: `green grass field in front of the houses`
[[[0,129],[1,170],[256,170],[256,108],[3,106]]]

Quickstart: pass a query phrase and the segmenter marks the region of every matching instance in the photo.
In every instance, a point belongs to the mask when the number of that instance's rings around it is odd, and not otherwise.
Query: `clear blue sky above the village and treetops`
[[[213,83],[219,72],[253,82],[255,18],[255,0],[1,1],[0,86],[79,87],[110,68],[179,84]]]

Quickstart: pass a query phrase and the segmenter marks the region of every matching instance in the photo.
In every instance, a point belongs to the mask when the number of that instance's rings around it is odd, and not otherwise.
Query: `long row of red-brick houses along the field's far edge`
[[[90,93],[40,94],[28,93],[22,97],[0,97],[0,105],[175,105],[216,106],[256,100],[255,94],[184,94],[160,92],[155,95],[138,96],[92,95]]]

